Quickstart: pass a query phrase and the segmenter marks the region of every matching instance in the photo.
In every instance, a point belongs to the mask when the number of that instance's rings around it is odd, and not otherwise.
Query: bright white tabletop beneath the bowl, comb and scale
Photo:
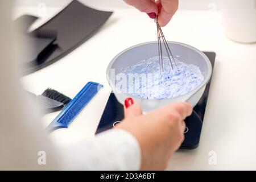
[[[48,7],[47,16],[38,24],[59,10]],[[110,60],[127,47],[156,40],[155,23],[147,15],[132,8],[113,10],[91,39],[49,67],[22,78],[24,87],[35,94],[51,87],[70,97],[88,81],[104,85],[68,129],[51,134],[60,146],[72,147],[93,137],[111,91],[106,80]],[[18,7],[15,16],[36,12],[36,7]],[[217,11],[179,10],[163,31],[168,40],[217,54],[200,145],[195,150],[175,152],[168,169],[256,169],[256,44],[226,38]],[[45,115],[43,125],[57,114]],[[209,151],[216,152],[216,165],[209,164]]]

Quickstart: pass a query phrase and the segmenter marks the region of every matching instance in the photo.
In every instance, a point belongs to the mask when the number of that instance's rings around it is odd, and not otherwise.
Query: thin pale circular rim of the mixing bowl
[[[119,52],[116,56],[113,57],[113,59],[110,61],[109,65],[106,69],[106,77],[107,77],[107,80],[108,80],[109,85],[110,85],[111,88],[112,88],[112,86],[111,86],[112,84],[110,83],[109,75],[110,75],[110,68],[112,67],[114,61],[117,60],[117,58],[119,56],[121,56],[126,51],[129,51],[130,49],[133,49],[133,48],[139,47],[139,46],[144,46],[144,45],[147,45],[147,44],[152,44],[152,43],[158,43],[158,42],[157,41],[150,41],[150,42],[139,43],[139,44],[136,44],[134,46],[131,46],[131,47],[128,47],[128,48],[124,49],[123,51]],[[168,44],[169,43],[170,44],[179,44],[180,46],[184,46],[184,47],[187,47],[189,49],[192,49],[193,51],[196,51],[197,53],[199,53],[204,58],[205,63],[207,64],[207,70],[208,70],[207,75],[205,76],[205,79],[203,80],[203,82],[201,82],[201,84],[199,86],[197,86],[191,92],[188,92],[186,94],[176,96],[176,97],[172,97],[172,98],[162,99],[162,100],[171,100],[171,99],[174,99],[174,98],[177,99],[179,97],[187,97],[186,101],[188,101],[195,93],[197,93],[201,88],[203,88],[209,82],[210,77],[212,76],[212,64],[210,63],[209,58],[202,51],[200,51],[199,49],[197,49],[193,46],[189,46],[188,44],[184,44],[184,43],[181,43],[181,42],[175,42],[175,41],[167,41],[167,43]],[[117,88],[115,88],[115,89],[117,89]],[[135,97],[135,96],[130,95],[129,93],[122,93],[122,94],[126,94],[129,97]],[[135,97],[135,98],[137,98],[139,100],[147,100],[148,101],[148,99],[144,99],[144,98],[139,98],[139,97]],[[155,101],[155,100],[152,100],[152,101]],[[157,100],[157,101],[161,101],[161,100]]]

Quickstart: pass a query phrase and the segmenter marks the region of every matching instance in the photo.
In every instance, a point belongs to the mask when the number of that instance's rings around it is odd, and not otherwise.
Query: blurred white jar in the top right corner
[[[256,0],[220,2],[226,36],[236,42],[256,42]]]

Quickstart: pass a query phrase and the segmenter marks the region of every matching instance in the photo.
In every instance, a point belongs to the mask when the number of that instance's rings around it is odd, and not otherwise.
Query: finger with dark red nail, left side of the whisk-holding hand
[[[125,0],[125,2],[144,13],[158,14],[158,7],[152,0]]]

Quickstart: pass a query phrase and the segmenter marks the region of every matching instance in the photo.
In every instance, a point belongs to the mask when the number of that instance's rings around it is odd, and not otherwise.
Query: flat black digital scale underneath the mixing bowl
[[[209,58],[210,63],[212,63],[212,67],[214,66],[214,61],[216,57],[216,53],[214,52],[204,52],[205,55]],[[197,105],[193,108],[193,113],[191,116],[185,119],[186,129],[184,132],[185,139],[181,144],[180,148],[183,149],[194,149],[199,146],[199,140],[201,135],[201,128],[204,121],[204,113],[205,107],[207,106],[207,99],[210,89],[209,80],[203,96],[200,98]],[[111,129],[117,121],[122,121],[123,119],[123,105],[117,101],[114,93],[111,93],[109,96],[109,100],[104,109],[104,113],[102,114],[100,123],[98,124],[98,128],[96,131],[100,133],[102,131]]]

